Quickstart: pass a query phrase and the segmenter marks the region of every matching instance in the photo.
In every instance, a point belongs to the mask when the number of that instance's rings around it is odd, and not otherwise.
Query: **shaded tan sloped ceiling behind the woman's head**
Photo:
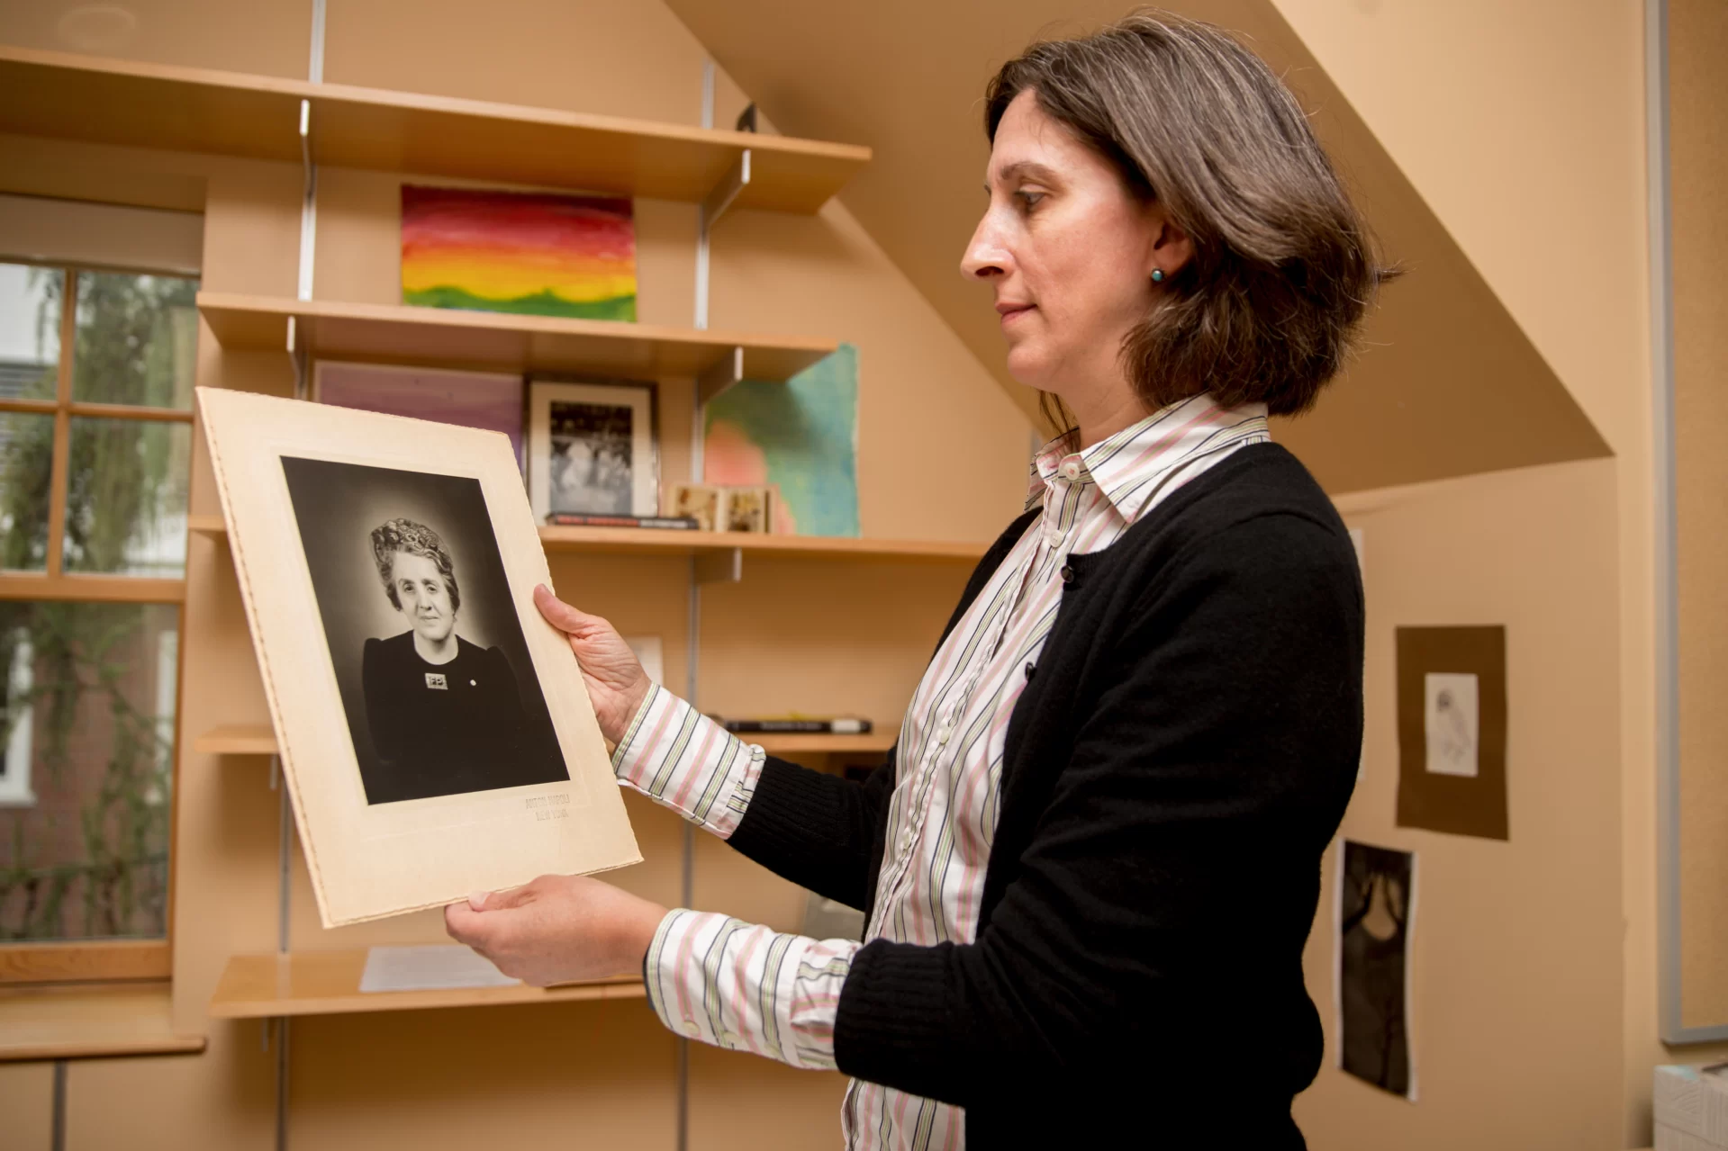
[[[1123,0],[667,2],[776,128],[874,149],[842,200],[1035,413],[1035,394],[1004,368],[988,289],[959,275],[983,207],[983,85],[1028,41],[1090,31],[1121,16]],[[1312,415],[1280,422],[1279,441],[1332,493],[1610,455],[1270,0],[1172,7],[1244,35],[1286,76],[1407,270],[1358,358]]]

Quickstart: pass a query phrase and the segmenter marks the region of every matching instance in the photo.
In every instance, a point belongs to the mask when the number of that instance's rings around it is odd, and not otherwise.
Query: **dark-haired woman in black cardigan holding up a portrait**
[[[1363,605],[1268,437],[1382,270],[1306,116],[1225,33],[1139,12],[1007,62],[961,270],[1066,432],[988,550],[895,750],[767,757],[569,633],[622,783],[867,914],[783,935],[546,876],[446,909],[544,983],[643,970],[676,1032],[854,1077],[850,1148],[1299,1148],[1301,971],[1362,747]]]

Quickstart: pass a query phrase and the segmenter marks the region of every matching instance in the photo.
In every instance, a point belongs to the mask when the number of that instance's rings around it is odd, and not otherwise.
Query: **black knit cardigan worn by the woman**
[[[976,942],[867,944],[835,1059],[966,1108],[975,1149],[1301,1148],[1291,1097],[1320,1063],[1301,952],[1362,752],[1348,532],[1260,444],[1063,579],[1007,728]],[[729,842],[869,909],[893,785],[892,754],[862,783],[769,759]]]

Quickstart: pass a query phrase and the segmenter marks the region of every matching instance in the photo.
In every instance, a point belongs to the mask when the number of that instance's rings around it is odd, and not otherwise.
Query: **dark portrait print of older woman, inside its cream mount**
[[[366,802],[569,779],[480,482],[282,470]]]

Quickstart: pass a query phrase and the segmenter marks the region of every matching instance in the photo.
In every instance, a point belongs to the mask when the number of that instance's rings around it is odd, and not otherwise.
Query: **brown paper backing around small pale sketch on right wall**
[[[1396,641],[1398,826],[1509,838],[1505,627],[1400,627]],[[1474,776],[1429,771],[1424,688],[1429,674],[1476,676]]]

